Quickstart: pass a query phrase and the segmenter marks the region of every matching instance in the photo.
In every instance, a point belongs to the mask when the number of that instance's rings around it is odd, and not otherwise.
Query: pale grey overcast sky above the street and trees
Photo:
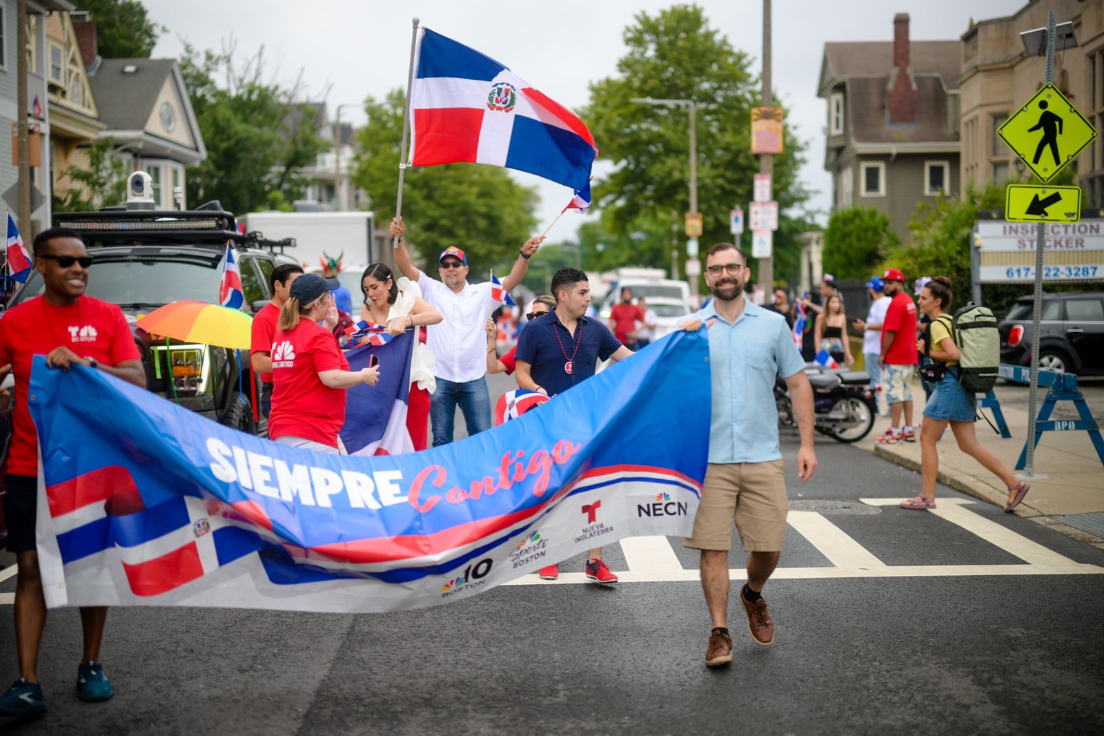
[[[364,122],[365,96],[383,96],[404,86],[410,57],[411,18],[502,62],[553,99],[578,107],[587,83],[609,76],[624,54],[622,31],[640,11],[654,14],[675,4],[659,0],[142,0],[152,20],[169,29],[153,50],[176,56],[181,40],[219,49],[233,33],[240,55],[264,45],[278,77],[293,81],[300,70],[312,98],[333,105],[357,103],[343,118]],[[699,0],[713,28],[755,59],[762,54],[763,4],[760,0]],[[774,87],[787,119],[808,141],[805,185],[816,193],[809,209],[826,213],[830,179],[824,170],[825,101],[817,97],[817,75],[827,41],[890,41],[893,15],[907,12],[915,41],[960,36],[969,20],[1015,13],[1026,0],[775,0],[773,6]],[[1059,19],[1062,20],[1062,19]],[[602,147],[602,141],[598,148]],[[599,165],[595,170],[601,172]],[[396,168],[397,176],[397,168]],[[551,222],[571,198],[564,187],[528,174],[518,180],[541,194],[538,218]],[[732,204],[736,204],[733,202]],[[594,217],[593,214],[584,217]],[[824,221],[826,214],[818,219]],[[564,215],[553,241],[570,236],[584,219]]]

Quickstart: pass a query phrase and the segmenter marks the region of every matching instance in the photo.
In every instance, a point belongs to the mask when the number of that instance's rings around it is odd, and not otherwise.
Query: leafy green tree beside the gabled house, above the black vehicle
[[[180,67],[206,144],[205,161],[188,171],[188,199],[217,199],[243,214],[289,209],[301,196],[300,175],[329,146],[318,134],[317,113],[296,102],[301,86],[265,77],[264,50],[238,66],[234,50],[184,48]],[[225,80],[225,86],[216,80]]]

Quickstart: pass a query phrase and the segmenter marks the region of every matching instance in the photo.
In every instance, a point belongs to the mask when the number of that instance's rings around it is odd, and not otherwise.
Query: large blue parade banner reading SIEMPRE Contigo
[[[704,330],[676,333],[517,420],[404,455],[279,445],[41,357],[29,400],[50,607],[391,611],[688,535],[709,348]]]

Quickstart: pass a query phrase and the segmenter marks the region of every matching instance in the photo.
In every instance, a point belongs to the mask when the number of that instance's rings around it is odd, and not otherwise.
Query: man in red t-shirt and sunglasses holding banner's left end
[[[28,411],[31,361],[46,356],[51,368],[85,366],[146,388],[146,370],[130,327],[119,307],[85,296],[92,259],[81,236],[53,228],[34,239],[34,267],[45,292],[10,308],[0,318],[0,376],[15,374],[15,407],[8,455],[4,518],[8,550],[17,557],[15,641],[20,679],[0,696],[0,713],[22,715],[45,709],[38,684],[39,642],[46,623],[46,603],[34,543],[39,493],[39,440]],[[77,397],[64,397],[78,400]],[[6,402],[7,403],[7,402]],[[4,411],[11,412],[10,404]],[[77,667],[77,694],[84,701],[106,701],[114,694],[99,664],[106,607],[81,609],[84,654]]]

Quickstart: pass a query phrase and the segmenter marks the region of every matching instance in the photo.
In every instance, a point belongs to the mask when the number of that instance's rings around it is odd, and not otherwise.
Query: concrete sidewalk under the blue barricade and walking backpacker
[[[1000,398],[999,386],[997,396]],[[1042,396],[1040,391],[1040,403]],[[913,422],[919,424],[924,411],[924,391],[920,381],[913,383]],[[1012,434],[1011,439],[1006,440],[995,433],[985,420],[977,422],[977,439],[1008,467],[1013,469],[1023,443],[1027,442],[1028,414],[1020,409],[1004,406],[1001,410]],[[984,411],[992,420],[991,412],[988,409]],[[874,430],[861,442],[857,442],[856,446],[916,471],[915,487],[901,488],[902,498],[914,496],[921,490],[919,437],[916,442],[875,444],[873,438],[884,432],[887,427],[889,418],[879,418]],[[1047,477],[1030,481],[1031,491],[1015,513],[1104,549],[1104,465],[1096,456],[1089,433],[1043,432],[1036,448],[1034,470],[1037,475]],[[1007,490],[1000,481],[958,449],[949,427],[940,441],[938,480],[956,491],[998,506],[1004,506],[1008,498]]]

